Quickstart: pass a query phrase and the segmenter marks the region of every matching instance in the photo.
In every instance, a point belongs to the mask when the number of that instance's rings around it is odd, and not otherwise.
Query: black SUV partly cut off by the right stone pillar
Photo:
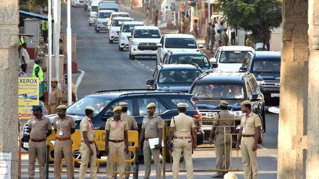
[[[253,73],[264,95],[266,105],[279,106],[280,99],[280,52],[248,52],[240,72]]]

